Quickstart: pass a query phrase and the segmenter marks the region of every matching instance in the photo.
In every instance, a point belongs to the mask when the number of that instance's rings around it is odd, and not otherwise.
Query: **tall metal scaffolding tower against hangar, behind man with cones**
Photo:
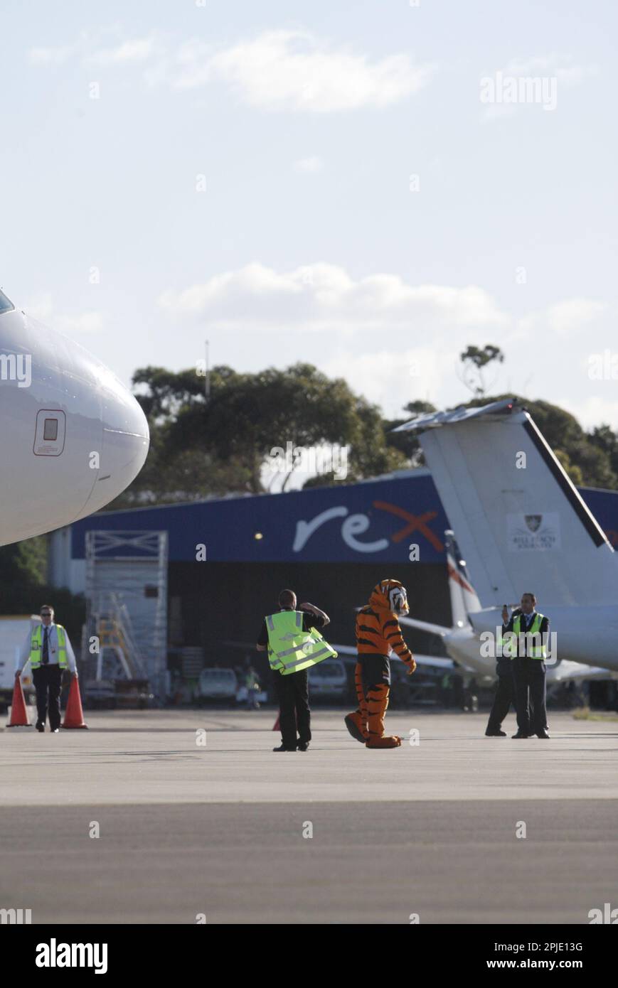
[[[94,681],[147,679],[163,698],[167,667],[167,533],[86,533],[82,658]],[[91,653],[97,639],[98,651]]]

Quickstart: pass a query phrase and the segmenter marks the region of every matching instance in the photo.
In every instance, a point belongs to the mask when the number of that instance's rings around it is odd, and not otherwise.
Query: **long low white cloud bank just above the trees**
[[[589,327],[609,312],[604,303],[578,296],[517,316],[479,286],[413,285],[388,273],[354,278],[323,262],[290,271],[253,262],[203,284],[169,288],[157,302],[189,336],[192,326],[206,321],[230,338],[259,339],[268,351],[273,340],[305,341],[314,334],[314,363],[345,377],[391,416],[414,399],[439,407],[466,401],[460,356],[468,345],[487,343],[505,355],[504,364],[486,374],[489,392],[541,393],[556,401],[554,380],[561,388],[570,380],[574,398],[564,404],[579,414],[576,403],[585,400],[586,388],[596,388],[577,371],[577,362],[589,349]],[[295,352],[293,342],[286,352]],[[559,375],[548,378],[547,368],[557,361]],[[607,415],[613,415],[609,388],[598,393],[605,391]],[[599,416],[601,409],[591,403],[586,421]]]

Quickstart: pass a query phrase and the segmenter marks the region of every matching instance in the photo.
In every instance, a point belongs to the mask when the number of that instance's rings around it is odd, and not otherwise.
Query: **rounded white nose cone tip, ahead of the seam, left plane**
[[[96,376],[103,448],[97,482],[88,500],[89,513],[109,504],[130,485],[145,462],[150,443],[146,417],[132,393],[107,368],[100,368]]]

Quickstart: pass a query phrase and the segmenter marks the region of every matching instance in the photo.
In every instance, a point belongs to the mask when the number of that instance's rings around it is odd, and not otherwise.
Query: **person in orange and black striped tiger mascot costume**
[[[358,709],[348,713],[345,726],[367,748],[398,748],[401,739],[384,732],[384,718],[391,692],[392,651],[408,666],[416,663],[403,640],[398,615],[409,613],[405,587],[398,580],[382,580],[369,598],[369,604],[356,616],[358,662],[354,672]]]

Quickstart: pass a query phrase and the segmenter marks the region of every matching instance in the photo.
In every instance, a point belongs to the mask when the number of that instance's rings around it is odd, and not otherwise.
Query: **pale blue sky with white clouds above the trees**
[[[0,287],[129,384],[308,361],[618,429],[615,5],[3,0]]]

